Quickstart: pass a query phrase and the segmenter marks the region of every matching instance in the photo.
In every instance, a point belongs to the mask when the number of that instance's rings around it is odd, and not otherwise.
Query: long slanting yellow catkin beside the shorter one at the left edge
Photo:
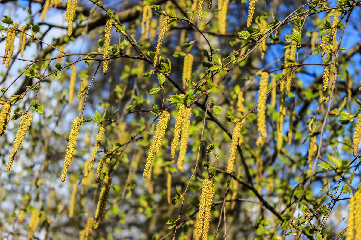
[[[13,166],[14,157],[21,145],[21,142],[24,140],[25,134],[30,127],[31,121],[32,121],[31,113],[25,114],[23,116],[23,118],[21,119],[21,122],[20,122],[20,125],[18,128],[18,132],[16,133],[16,136],[15,136],[13,149],[11,150],[11,153],[10,153],[8,167],[5,170],[6,172],[9,172],[11,167]]]

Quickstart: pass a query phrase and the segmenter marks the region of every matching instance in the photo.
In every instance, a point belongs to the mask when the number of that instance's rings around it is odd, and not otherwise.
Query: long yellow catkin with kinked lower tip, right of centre
[[[266,72],[261,73],[260,90],[258,91],[258,113],[257,113],[257,126],[260,132],[260,137],[256,141],[256,145],[259,146],[266,139],[266,98],[267,98],[267,86],[269,75]]]

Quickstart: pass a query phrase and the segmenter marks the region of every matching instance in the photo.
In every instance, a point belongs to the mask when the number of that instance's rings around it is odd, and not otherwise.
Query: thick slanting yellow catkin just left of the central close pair
[[[147,158],[147,162],[145,163],[143,177],[147,177],[149,168],[151,167],[152,164],[153,156],[154,154],[158,153],[162,145],[163,136],[165,134],[165,130],[167,128],[169,119],[170,119],[169,112],[163,111],[163,113],[159,117],[159,121],[157,123],[156,130],[154,132],[153,140],[149,148],[148,158]]]

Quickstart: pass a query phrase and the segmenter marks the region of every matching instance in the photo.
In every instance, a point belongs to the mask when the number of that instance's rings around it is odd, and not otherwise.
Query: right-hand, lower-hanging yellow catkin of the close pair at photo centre
[[[191,125],[191,120],[189,118],[191,116],[192,108],[187,108],[183,118],[181,145],[179,146],[179,157],[177,161],[177,168],[181,172],[184,172],[183,162],[184,158],[186,158],[187,141],[189,138],[189,126]]]

